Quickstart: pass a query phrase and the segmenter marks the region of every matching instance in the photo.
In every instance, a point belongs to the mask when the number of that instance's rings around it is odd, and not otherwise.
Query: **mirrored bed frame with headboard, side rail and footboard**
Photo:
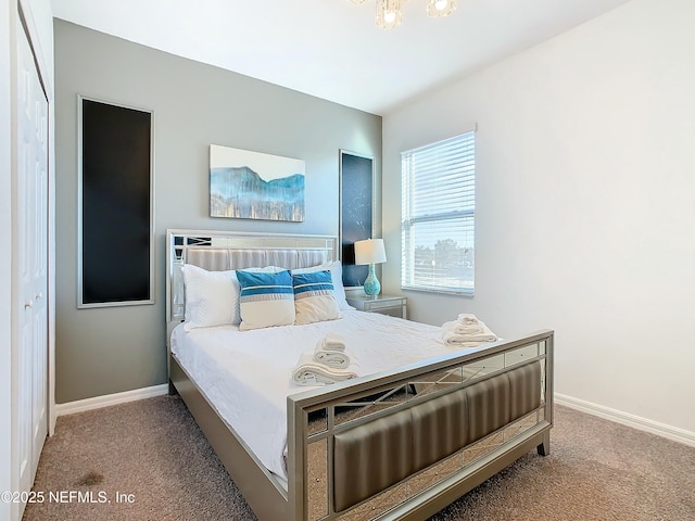
[[[184,318],[185,263],[223,270],[338,258],[326,236],[168,230],[166,241],[167,339]],[[553,339],[540,331],[289,396],[287,483],[170,351],[169,390],[261,521],[425,520],[533,448],[549,454]]]

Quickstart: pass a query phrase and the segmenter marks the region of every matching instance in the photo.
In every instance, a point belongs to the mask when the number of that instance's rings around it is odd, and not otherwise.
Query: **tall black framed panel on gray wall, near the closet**
[[[153,112],[77,105],[77,307],[153,304]]]

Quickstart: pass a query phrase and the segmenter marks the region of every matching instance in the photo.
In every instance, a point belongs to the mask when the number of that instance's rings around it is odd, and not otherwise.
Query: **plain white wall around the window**
[[[558,393],[695,436],[693,20],[633,0],[384,117],[383,230],[399,258],[400,152],[478,122],[476,296],[410,317],[555,329]]]

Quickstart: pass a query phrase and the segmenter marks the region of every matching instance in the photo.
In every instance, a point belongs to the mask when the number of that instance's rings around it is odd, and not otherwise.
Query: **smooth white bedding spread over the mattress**
[[[338,320],[243,332],[235,326],[186,331],[179,325],[172,353],[261,462],[287,479],[287,396],[312,389],[295,384],[292,372],[300,354],[331,332],[345,338],[359,376],[454,351],[439,327],[344,310]]]

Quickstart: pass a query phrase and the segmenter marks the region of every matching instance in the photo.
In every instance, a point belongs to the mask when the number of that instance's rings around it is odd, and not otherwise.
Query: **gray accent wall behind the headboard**
[[[381,117],[61,20],[54,34],[55,401],[63,404],[166,383],[167,228],[338,234],[340,149],[376,158],[380,201]],[[77,309],[78,94],[154,110],[154,305]],[[305,221],[208,217],[210,144],[304,160]]]

